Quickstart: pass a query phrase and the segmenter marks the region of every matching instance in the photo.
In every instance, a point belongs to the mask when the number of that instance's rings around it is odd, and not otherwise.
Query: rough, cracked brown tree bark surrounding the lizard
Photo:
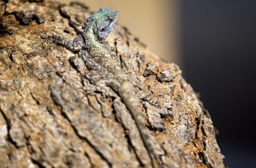
[[[0,2],[0,168],[224,167],[212,121],[179,67],[126,28],[117,25],[106,43],[145,94],[142,112],[162,152],[157,163],[118,94],[87,93],[92,84],[77,54],[40,38],[72,39],[90,14],[79,3]]]

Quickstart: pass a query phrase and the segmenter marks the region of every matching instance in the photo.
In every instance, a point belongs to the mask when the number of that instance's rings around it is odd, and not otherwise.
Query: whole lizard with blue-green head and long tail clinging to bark
[[[78,52],[88,72],[86,77],[95,86],[109,86],[117,92],[124,104],[127,106],[136,127],[140,132],[141,139],[148,150],[151,159],[158,160],[159,149],[154,149],[151,136],[147,128],[146,118],[142,115],[143,108],[137,90],[129,81],[128,76],[122,71],[121,66],[115,58],[110,46],[102,42],[113,30],[119,13],[107,7],[101,7],[98,12],[89,16],[84,22],[81,33],[74,40],[67,40],[58,35],[43,34],[42,38],[50,38],[56,44],[61,44],[69,50]],[[156,151],[158,150],[158,151]],[[157,161],[158,162],[158,161]]]

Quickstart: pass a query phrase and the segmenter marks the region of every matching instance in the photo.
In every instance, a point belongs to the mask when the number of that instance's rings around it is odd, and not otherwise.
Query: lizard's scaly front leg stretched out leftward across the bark
[[[52,35],[47,35],[47,34],[43,34],[41,36],[41,38],[43,39],[52,39],[54,43],[56,44],[61,44],[65,47],[67,47],[69,50],[73,50],[73,51],[79,51],[82,49],[83,46],[83,38],[81,37],[81,35],[79,35],[78,37],[75,37],[74,40],[67,40],[64,37],[61,36],[56,36],[54,34]]]

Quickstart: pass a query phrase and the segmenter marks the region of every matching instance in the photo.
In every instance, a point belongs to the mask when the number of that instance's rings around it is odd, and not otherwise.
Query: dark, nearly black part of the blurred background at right
[[[183,75],[229,168],[256,168],[256,0],[183,0]]]

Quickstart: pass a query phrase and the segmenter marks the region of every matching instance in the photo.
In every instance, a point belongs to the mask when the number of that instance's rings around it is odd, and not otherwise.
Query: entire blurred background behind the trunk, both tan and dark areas
[[[220,131],[225,166],[256,167],[256,0],[80,1],[116,9],[120,25],[178,64]]]

